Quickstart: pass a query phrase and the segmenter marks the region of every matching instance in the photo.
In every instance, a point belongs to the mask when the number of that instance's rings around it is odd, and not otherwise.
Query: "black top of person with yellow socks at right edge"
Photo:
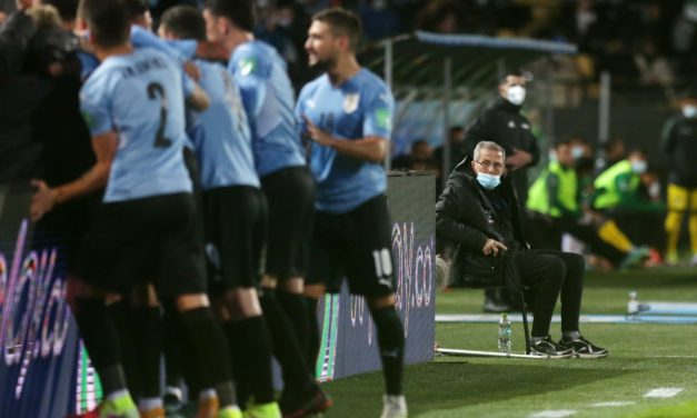
[[[668,181],[697,187],[697,119],[671,118],[664,128],[661,148],[668,156]]]

